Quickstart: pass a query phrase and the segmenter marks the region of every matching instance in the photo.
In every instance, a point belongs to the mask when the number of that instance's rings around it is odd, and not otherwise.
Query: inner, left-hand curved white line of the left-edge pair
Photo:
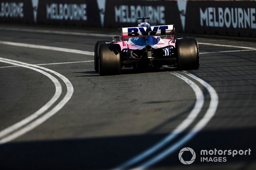
[[[45,76],[50,78],[52,80],[52,82],[54,83],[54,85],[55,85],[55,94],[53,95],[51,100],[49,100],[43,107],[41,107],[35,113],[33,113],[32,115],[30,115],[27,118],[23,119],[22,121],[17,122],[15,124],[13,124],[12,126],[9,126],[8,128],[5,128],[4,130],[1,130],[0,131],[0,138],[4,137],[8,133],[13,132],[14,130],[19,129],[20,127],[24,126],[28,122],[31,122],[32,120],[36,119],[38,116],[43,114],[47,109],[49,109],[59,99],[60,94],[62,92],[62,88],[61,88],[60,82],[55,77],[50,75],[49,73],[47,73],[47,72],[45,72],[43,70],[34,68],[34,67],[30,67],[30,66],[22,65],[22,64],[18,64],[18,63],[13,63],[13,62],[5,61],[5,60],[2,60],[2,59],[3,58],[0,58],[0,62],[13,64],[13,65],[17,65],[17,66],[20,66],[20,67],[25,67],[25,68],[28,68],[28,69],[31,69],[31,70],[35,70],[35,71],[37,71],[39,73],[44,74]],[[2,140],[0,140],[0,143],[3,143]]]

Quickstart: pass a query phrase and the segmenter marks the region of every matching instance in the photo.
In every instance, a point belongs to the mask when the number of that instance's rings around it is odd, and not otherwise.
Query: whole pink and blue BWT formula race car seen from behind
[[[142,20],[138,27],[121,28],[121,39],[120,36],[114,36],[112,42],[96,42],[94,69],[100,75],[118,75],[121,74],[121,68],[199,68],[196,39],[175,37],[174,25],[150,26],[149,22],[145,22],[149,17],[137,19]],[[124,38],[128,38],[128,41],[124,41]]]

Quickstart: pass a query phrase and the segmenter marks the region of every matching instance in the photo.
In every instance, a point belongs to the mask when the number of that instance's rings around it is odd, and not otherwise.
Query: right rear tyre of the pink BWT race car
[[[198,44],[194,38],[176,41],[179,70],[197,70],[200,65]]]

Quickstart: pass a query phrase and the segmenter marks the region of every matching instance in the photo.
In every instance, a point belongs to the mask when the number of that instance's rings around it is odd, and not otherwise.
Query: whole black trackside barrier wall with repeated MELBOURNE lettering
[[[0,0],[0,24],[120,28],[137,26],[137,17],[179,33],[256,37],[256,0]]]

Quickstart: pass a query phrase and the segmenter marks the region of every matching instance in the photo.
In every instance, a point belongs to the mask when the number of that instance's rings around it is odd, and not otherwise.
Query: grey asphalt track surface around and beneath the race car
[[[27,43],[58,48],[94,51],[99,40],[111,41],[116,31],[65,30],[0,25],[0,41]],[[12,30],[9,28],[12,27]],[[9,30],[8,30],[8,29]],[[52,30],[90,33],[90,36],[24,31]],[[111,34],[100,37],[99,34]],[[187,71],[209,83],[219,96],[215,115],[195,137],[172,154],[150,166],[151,169],[256,169],[256,51],[231,46],[256,48],[256,43],[196,37],[200,69]],[[93,55],[0,44],[0,57],[42,67],[65,76],[73,85],[71,99],[42,124],[10,142],[0,144],[0,169],[110,169],[147,150],[169,135],[189,115],[196,103],[193,89],[178,73],[193,81],[204,94],[204,104],[196,119],[153,155],[132,165],[154,158],[165,151],[198,123],[209,108],[211,96],[195,79],[176,70],[137,73],[123,71],[118,76],[99,76],[93,69]],[[65,63],[71,62],[71,63]],[[53,97],[53,81],[40,72],[0,62],[0,131],[20,122],[43,107]],[[42,69],[40,69],[42,70]],[[68,93],[65,83],[49,71],[62,87],[50,111]],[[45,112],[45,113],[46,113]],[[45,114],[44,113],[44,114]],[[38,118],[44,114],[39,115]],[[1,138],[0,138],[1,139]],[[3,138],[2,138],[3,139]],[[180,149],[192,148],[196,160],[183,165]],[[200,151],[246,150],[251,155],[226,156],[227,162],[200,162]],[[183,155],[190,159],[191,155]],[[214,156],[211,156],[212,158]],[[223,157],[217,156],[217,157]],[[129,168],[131,168],[129,167]]]

